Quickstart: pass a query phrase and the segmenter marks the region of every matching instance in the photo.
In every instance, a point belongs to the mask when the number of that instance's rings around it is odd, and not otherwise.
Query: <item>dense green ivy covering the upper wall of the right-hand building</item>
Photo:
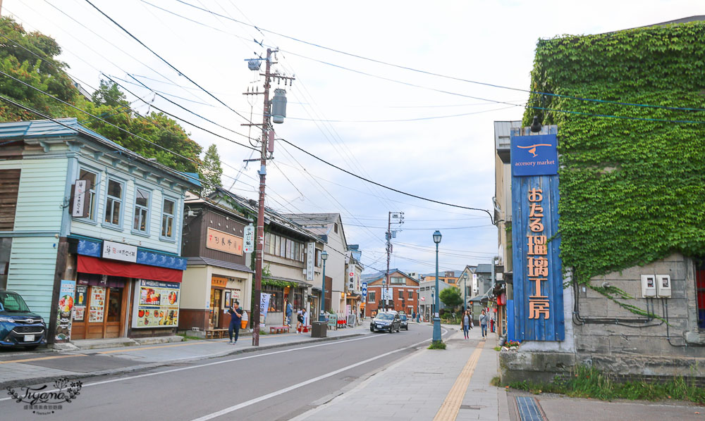
[[[558,125],[560,256],[577,282],[705,256],[704,45],[705,23],[539,41],[523,122]]]

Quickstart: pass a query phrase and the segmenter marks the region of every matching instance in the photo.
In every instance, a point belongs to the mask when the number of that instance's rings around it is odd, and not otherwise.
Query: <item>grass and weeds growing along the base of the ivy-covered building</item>
[[[705,389],[683,377],[668,382],[615,382],[613,377],[593,367],[578,366],[568,379],[556,378],[553,383],[513,382],[509,387],[533,394],[556,393],[575,398],[596,398],[602,401],[631,399],[644,401],[691,401],[705,405]]]

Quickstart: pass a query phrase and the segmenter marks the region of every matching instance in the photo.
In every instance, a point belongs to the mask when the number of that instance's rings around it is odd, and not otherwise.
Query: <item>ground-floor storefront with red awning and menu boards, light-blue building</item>
[[[78,241],[75,256],[73,317],[68,339],[163,336],[176,332],[179,319],[183,270],[136,263],[139,260],[164,265],[183,265],[185,259],[142,251],[111,241],[103,248],[123,249],[119,256],[104,251],[97,241]],[[92,254],[93,256],[90,256]],[[110,257],[108,257],[110,256]],[[140,256],[138,259],[137,256]],[[181,262],[180,260],[184,260]],[[135,262],[129,261],[135,260]],[[68,296],[60,297],[66,302]]]

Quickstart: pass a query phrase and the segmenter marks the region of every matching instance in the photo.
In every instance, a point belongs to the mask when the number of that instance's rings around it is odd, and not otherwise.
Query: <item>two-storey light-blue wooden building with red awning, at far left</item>
[[[47,320],[50,342],[172,334],[197,177],[57,121],[0,124],[0,288]]]

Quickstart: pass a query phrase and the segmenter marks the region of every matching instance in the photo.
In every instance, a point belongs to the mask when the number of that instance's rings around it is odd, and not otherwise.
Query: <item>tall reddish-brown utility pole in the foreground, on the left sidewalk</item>
[[[264,76],[264,92],[246,92],[245,95],[257,95],[264,94],[264,108],[262,112],[262,155],[259,158],[259,203],[257,206],[257,250],[255,251],[255,303],[252,303],[252,346],[259,346],[259,306],[262,302],[262,259],[264,258],[264,186],[266,177],[266,160],[267,160],[267,140],[269,138],[269,128],[271,126],[269,119],[271,118],[269,102],[269,82],[271,80],[272,74],[271,70],[271,54],[276,53],[278,50],[272,51],[271,49],[266,49],[266,67],[264,73],[259,75]],[[261,59],[260,59],[261,60]],[[250,69],[255,70],[252,67],[252,62],[256,59],[250,60]],[[259,69],[259,67],[257,67]],[[286,86],[287,80],[293,80],[293,77],[286,77],[281,75],[274,75],[279,79],[283,79],[284,85]],[[276,119],[275,119],[276,120]],[[283,120],[282,120],[283,121]],[[247,123],[243,126],[257,126],[257,123]],[[273,138],[274,139],[274,138]],[[274,151],[274,142],[269,146],[269,151]]]

